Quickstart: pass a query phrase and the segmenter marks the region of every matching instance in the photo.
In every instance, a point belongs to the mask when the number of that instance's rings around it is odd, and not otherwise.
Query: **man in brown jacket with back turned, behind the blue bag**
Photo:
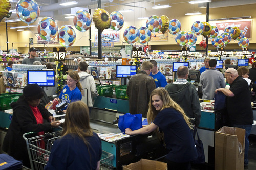
[[[154,79],[149,76],[153,65],[150,61],[142,63],[142,70],[133,75],[127,85],[129,111],[131,114],[142,114],[146,117],[150,94],[156,88]]]

